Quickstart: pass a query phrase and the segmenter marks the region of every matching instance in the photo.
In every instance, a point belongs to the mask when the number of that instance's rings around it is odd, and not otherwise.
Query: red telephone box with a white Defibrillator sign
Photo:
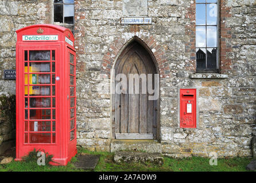
[[[66,165],[76,149],[76,53],[65,27],[17,30],[16,158],[34,148]]]

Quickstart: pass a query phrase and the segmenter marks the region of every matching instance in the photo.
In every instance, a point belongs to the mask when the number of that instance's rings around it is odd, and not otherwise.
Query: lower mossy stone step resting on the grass
[[[164,158],[161,153],[142,153],[142,152],[116,152],[114,155],[116,163],[121,162],[152,162],[153,164],[162,165]]]

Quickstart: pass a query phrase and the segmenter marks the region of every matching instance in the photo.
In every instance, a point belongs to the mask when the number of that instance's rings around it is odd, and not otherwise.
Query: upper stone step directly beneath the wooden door
[[[123,150],[162,153],[162,146],[161,143],[156,140],[111,140],[111,153]]]

